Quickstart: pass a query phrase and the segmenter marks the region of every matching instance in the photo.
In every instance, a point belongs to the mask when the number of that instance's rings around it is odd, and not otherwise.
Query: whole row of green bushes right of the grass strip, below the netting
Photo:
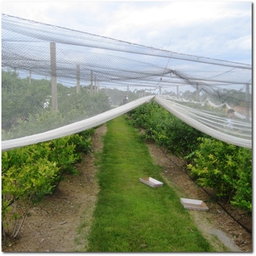
[[[185,124],[157,103],[128,113],[142,138],[187,161],[189,174],[202,187],[212,188],[218,200],[252,212],[252,150],[214,139]]]

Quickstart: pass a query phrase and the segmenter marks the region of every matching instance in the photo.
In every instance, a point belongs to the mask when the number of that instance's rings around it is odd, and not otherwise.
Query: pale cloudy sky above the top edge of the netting
[[[250,1],[1,1],[1,13],[182,54],[252,64]]]

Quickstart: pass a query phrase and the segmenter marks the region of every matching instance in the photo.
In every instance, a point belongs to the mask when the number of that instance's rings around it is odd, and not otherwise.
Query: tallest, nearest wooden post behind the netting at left
[[[50,43],[51,55],[51,104],[53,112],[58,111],[57,79],[56,79],[56,43]]]

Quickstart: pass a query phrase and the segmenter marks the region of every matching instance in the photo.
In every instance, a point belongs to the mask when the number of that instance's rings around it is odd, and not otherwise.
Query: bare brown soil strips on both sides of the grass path
[[[4,252],[77,252],[86,251],[87,236],[97,202],[99,186],[95,174],[94,154],[103,147],[102,135],[106,125],[97,128],[92,137],[93,152],[77,164],[79,175],[67,176],[54,195],[48,196],[30,211],[15,240],[2,246]],[[192,182],[182,171],[184,163],[172,155],[165,155],[154,144],[148,143],[155,164],[163,167],[165,182],[177,189],[180,197],[206,202],[209,211],[188,210],[197,227],[215,246],[223,251],[218,240],[231,252],[252,252],[252,234],[232,219],[210,196]],[[227,206],[226,206],[227,207]],[[228,207],[227,207],[228,208]],[[230,208],[230,207],[229,207]],[[229,209],[242,225],[252,229],[252,220],[243,212]]]

